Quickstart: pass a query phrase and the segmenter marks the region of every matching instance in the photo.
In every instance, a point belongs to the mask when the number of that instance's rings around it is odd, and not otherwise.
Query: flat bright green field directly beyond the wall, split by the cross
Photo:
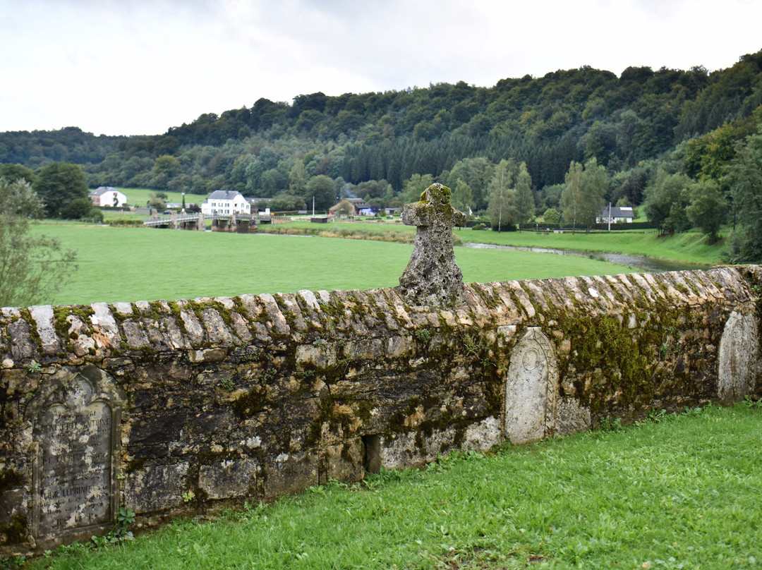
[[[74,304],[193,299],[300,289],[394,287],[411,244],[294,235],[184,232],[73,223],[34,226],[78,252],[53,299]],[[604,261],[529,251],[456,248],[467,282],[616,274]]]

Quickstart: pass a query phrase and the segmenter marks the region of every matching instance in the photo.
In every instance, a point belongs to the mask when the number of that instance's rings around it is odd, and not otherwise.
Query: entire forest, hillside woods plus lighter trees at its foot
[[[665,233],[738,231],[728,258],[762,258],[762,51],[714,72],[590,67],[201,114],[161,135],[93,136],[75,126],[0,133],[0,163],[80,165],[89,187],[207,194],[219,188],[301,209],[315,198],[376,207],[431,181],[462,210],[515,223],[560,216],[589,227],[604,203],[642,207]],[[572,214],[573,213],[573,214]]]

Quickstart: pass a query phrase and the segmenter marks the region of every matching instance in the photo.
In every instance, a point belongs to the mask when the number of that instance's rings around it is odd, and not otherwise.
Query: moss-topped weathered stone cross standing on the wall
[[[465,226],[466,214],[450,206],[450,188],[431,184],[420,201],[402,210],[402,223],[417,229],[408,267],[396,287],[400,296],[411,305],[466,303],[463,274],[453,251],[453,227]]]

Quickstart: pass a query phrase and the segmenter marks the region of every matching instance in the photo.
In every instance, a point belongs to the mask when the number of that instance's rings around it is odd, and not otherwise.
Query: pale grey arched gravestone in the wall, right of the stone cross
[[[527,444],[552,433],[558,366],[549,339],[530,327],[514,347],[505,380],[504,436]]]

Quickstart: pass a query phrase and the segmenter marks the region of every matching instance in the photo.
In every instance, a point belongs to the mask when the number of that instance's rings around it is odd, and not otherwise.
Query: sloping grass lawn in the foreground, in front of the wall
[[[30,568],[759,568],[762,408],[652,418],[175,520]]]

